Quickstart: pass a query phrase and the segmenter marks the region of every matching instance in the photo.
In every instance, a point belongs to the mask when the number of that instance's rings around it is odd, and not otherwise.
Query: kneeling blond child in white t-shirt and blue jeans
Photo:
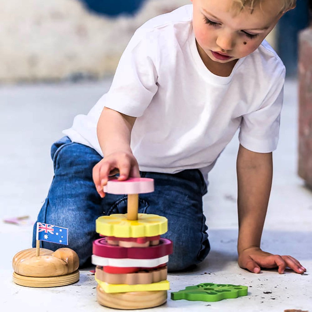
[[[295,258],[260,249],[285,77],[264,38],[295,0],[192,2],[135,32],[109,92],[52,145],[55,176],[38,222],[70,228],[69,247],[85,265],[95,220],[126,213],[126,196],[103,192],[109,176],[153,178],[155,192],[140,195],[139,212],[168,218],[168,269],[186,270],[210,250],[207,175],[240,129],[238,264],[303,273]]]

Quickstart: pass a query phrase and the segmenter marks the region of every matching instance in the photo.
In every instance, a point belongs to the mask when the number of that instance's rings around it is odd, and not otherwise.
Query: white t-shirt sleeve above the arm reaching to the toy
[[[103,106],[139,117],[150,104],[157,86],[157,39],[152,31],[137,30],[120,58]]]

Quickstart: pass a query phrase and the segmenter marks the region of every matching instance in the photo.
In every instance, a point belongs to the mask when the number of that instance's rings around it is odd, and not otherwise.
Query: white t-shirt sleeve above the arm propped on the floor
[[[270,90],[259,109],[242,116],[239,141],[246,149],[257,153],[269,153],[276,149],[279,139],[284,81],[285,67],[283,66],[280,75],[277,75],[270,83]]]

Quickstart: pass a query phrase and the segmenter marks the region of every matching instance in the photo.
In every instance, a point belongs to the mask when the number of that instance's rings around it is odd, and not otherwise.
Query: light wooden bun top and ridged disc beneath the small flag
[[[51,251],[29,248],[12,260],[14,283],[28,287],[55,287],[79,280],[79,258],[70,248]]]

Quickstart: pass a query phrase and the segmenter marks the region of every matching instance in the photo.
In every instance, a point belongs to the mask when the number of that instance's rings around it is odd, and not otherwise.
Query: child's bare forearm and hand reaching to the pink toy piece
[[[139,177],[139,166],[130,148],[135,117],[104,108],[97,124],[97,136],[104,158],[93,168],[93,181],[101,197],[108,177],[119,172],[119,180]]]

